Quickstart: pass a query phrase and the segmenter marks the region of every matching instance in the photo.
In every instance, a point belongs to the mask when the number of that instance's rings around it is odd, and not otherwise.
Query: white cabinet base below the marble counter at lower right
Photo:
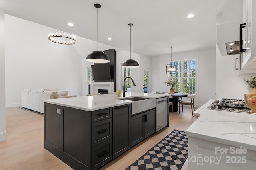
[[[253,170],[256,167],[254,150],[190,136],[188,140],[189,170]]]

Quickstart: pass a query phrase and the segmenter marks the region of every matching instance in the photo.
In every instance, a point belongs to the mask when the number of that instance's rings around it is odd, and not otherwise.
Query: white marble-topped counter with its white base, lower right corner
[[[188,168],[252,170],[256,167],[256,114],[198,108],[196,121],[186,130]]]

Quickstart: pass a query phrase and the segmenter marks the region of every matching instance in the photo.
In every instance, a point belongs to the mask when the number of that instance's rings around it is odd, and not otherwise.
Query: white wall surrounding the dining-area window
[[[172,61],[198,58],[198,93],[195,106],[200,107],[210,99],[215,99],[215,49],[173,53]],[[152,57],[151,59],[151,89],[152,92],[169,91],[164,81],[167,79],[166,64],[170,55]]]

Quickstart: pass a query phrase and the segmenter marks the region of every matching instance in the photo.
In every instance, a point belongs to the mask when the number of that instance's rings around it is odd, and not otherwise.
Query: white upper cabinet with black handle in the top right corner
[[[242,67],[256,68],[256,0],[244,0],[242,28]]]

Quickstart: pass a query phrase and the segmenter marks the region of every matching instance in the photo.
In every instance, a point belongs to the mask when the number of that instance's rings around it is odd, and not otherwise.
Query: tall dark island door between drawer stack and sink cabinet
[[[131,105],[113,107],[113,158],[126,150],[129,145],[129,117]]]

